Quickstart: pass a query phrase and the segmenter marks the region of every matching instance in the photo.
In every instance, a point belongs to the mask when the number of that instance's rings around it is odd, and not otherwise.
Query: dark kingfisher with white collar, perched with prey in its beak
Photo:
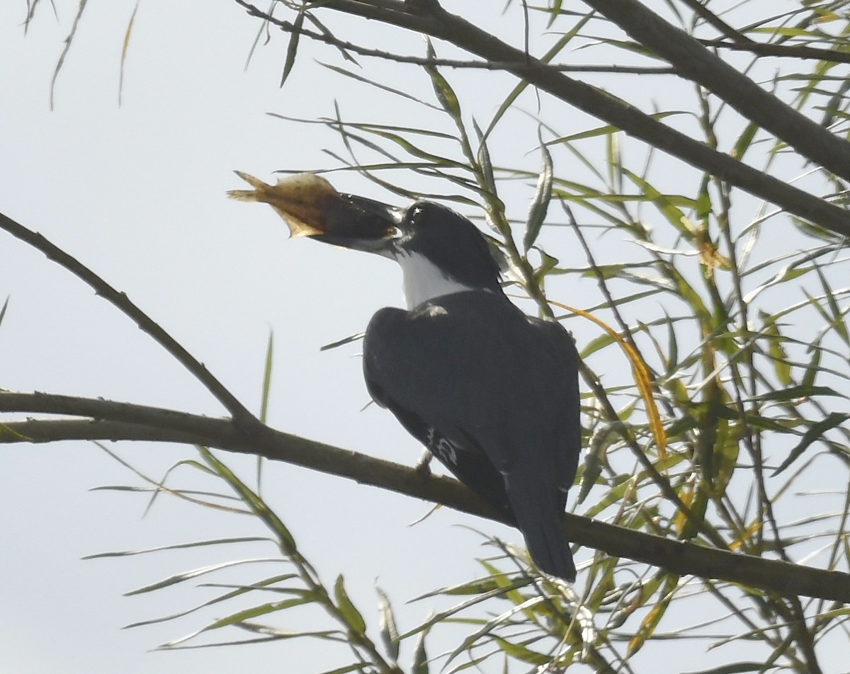
[[[371,397],[519,528],[542,571],[574,581],[561,528],[581,450],[572,337],[505,296],[467,218],[432,201],[339,196],[346,208],[328,209],[332,226],[311,238],[394,259],[404,276],[407,309],[380,309],[365,332]]]

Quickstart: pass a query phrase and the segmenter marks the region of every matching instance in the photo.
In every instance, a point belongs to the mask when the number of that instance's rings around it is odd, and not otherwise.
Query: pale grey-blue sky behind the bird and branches
[[[133,3],[91,4],[59,73],[50,110],[51,77],[76,11],[75,2],[56,4],[59,20],[48,3],[41,3],[26,37],[20,25],[24,5],[0,8],[0,209],[127,292],[254,411],[273,330],[269,423],[275,428],[397,462],[416,462],[420,448],[387,411],[376,405],[361,411],[369,398],[358,344],[319,351],[362,331],[377,308],[400,305],[398,269],[377,257],[289,241],[269,208],[229,201],[224,193],[242,187],[234,169],[271,180],[276,169],[339,166],[322,151],[344,152],[334,133],[319,125],[281,121],[268,112],[308,119],[332,116],[336,100],[348,119],[399,124],[401,118],[411,127],[433,124],[439,113],[415,104],[405,111],[398,99],[375,95],[365,84],[326,71],[317,59],[343,65],[341,59],[306,41],[290,81],[278,88],[285,42],[275,37],[271,46],[259,48],[245,70],[258,24],[227,2],[206,3],[202,15],[195,3],[141,3],[120,107],[122,39]],[[479,4],[482,15],[492,7]],[[510,24],[499,25],[506,31]],[[406,47],[422,52],[416,45]],[[415,66],[387,66],[382,75],[383,82],[406,85],[432,100],[428,81]],[[469,82],[471,75],[456,77]],[[512,82],[502,82],[501,89],[477,93],[474,110],[484,120],[510,90]],[[534,111],[532,97],[524,109]],[[572,131],[598,123],[568,111],[575,117],[570,119],[574,127],[566,124]],[[530,118],[517,113],[517,119],[534,128]],[[496,139],[511,161],[525,161],[536,170],[535,146],[520,144],[534,139],[534,133],[522,141],[509,134]],[[581,167],[576,162],[572,170]],[[565,157],[559,173],[570,173]],[[353,173],[330,178],[342,191],[402,201]],[[406,184],[427,189],[411,180]],[[533,181],[506,191],[517,195],[513,217],[523,218]],[[582,263],[580,252],[573,254]],[[200,384],[88,286],[0,233],[0,303],[7,296],[8,311],[0,326],[0,387],[224,414]],[[578,331],[580,343],[596,334],[587,326],[570,327]],[[123,444],[111,445],[111,450],[157,479],[176,462],[195,458],[195,451],[183,446]],[[243,477],[252,476],[253,459],[222,456]],[[407,630],[431,610],[449,605],[426,600],[405,606],[407,600],[481,573],[474,559],[490,548],[481,547],[479,535],[456,524],[521,542],[515,530],[448,509],[411,527],[428,512],[428,504],[286,465],[267,464],[264,470],[263,496],[328,584],[339,573],[346,576],[371,626],[377,626],[376,581],[394,603],[399,628]],[[3,445],[0,475],[3,671],[318,672],[348,663],[342,648],[295,640],[149,653],[220,613],[207,610],[157,626],[120,628],[188,609],[216,592],[198,588],[201,580],[139,597],[123,593],[207,564],[271,557],[275,551],[258,543],[81,558],[265,532],[246,518],[168,498],[160,498],[143,518],[146,496],[90,491],[139,484],[90,444]],[[178,468],[169,484],[208,485],[188,467]],[[591,553],[581,551],[577,561],[586,561]],[[273,568],[237,567],[210,580],[258,580]],[[286,624],[286,616],[283,626],[328,625],[322,616],[298,615],[303,621]],[[230,632],[228,637],[236,635]],[[439,637],[435,643],[447,645]],[[405,666],[410,648],[403,651]],[[438,651],[435,647],[431,654]],[[706,655],[705,667],[730,657],[728,650],[720,660]]]

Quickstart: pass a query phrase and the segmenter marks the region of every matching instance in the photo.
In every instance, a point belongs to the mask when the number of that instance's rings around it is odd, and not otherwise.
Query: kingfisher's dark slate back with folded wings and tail
[[[492,292],[382,309],[364,343],[372,397],[464,484],[513,514],[541,569],[569,579],[560,514],[580,448],[575,363],[563,328]]]

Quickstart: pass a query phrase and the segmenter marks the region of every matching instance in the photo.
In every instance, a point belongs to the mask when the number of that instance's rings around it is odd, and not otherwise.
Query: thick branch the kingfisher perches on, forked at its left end
[[[215,419],[143,405],[48,394],[0,392],[0,412],[89,416],[86,420],[27,420],[0,424],[0,444],[57,440],[153,440],[205,445],[265,456],[353,479],[381,489],[442,503],[463,513],[500,520],[496,512],[454,479],[422,479],[411,467],[265,426],[250,430]],[[564,533],[575,543],[614,557],[636,559],[679,575],[740,583],[785,596],[850,603],[850,574],[702,547],[564,513]]]

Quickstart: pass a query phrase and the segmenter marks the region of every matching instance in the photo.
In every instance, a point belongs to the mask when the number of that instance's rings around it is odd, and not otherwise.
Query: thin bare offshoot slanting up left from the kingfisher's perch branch
[[[64,267],[71,274],[82,279],[94,289],[100,297],[103,297],[107,302],[113,304],[119,309],[122,314],[133,320],[139,329],[150,335],[159,343],[162,348],[172,354],[178,362],[183,365],[190,374],[195,376],[207,390],[214,395],[218,401],[224,405],[225,409],[233,415],[236,423],[250,427],[253,424],[258,424],[258,420],[246,409],[244,405],[235,398],[233,394],[224,387],[222,382],[219,382],[212,372],[207,370],[203,363],[195,359],[195,357],[186,351],[177,340],[163,330],[154,320],[137,307],[124,292],[119,292],[110,286],[105,280],[95,274],[94,271],[88,269],[77,258],[71,257],[58,246],[48,241],[44,236],[37,232],[27,229],[24,225],[15,222],[12,218],[0,213],[0,229],[5,229],[15,238],[28,243],[38,251],[43,252],[48,259],[53,260],[60,266]]]

